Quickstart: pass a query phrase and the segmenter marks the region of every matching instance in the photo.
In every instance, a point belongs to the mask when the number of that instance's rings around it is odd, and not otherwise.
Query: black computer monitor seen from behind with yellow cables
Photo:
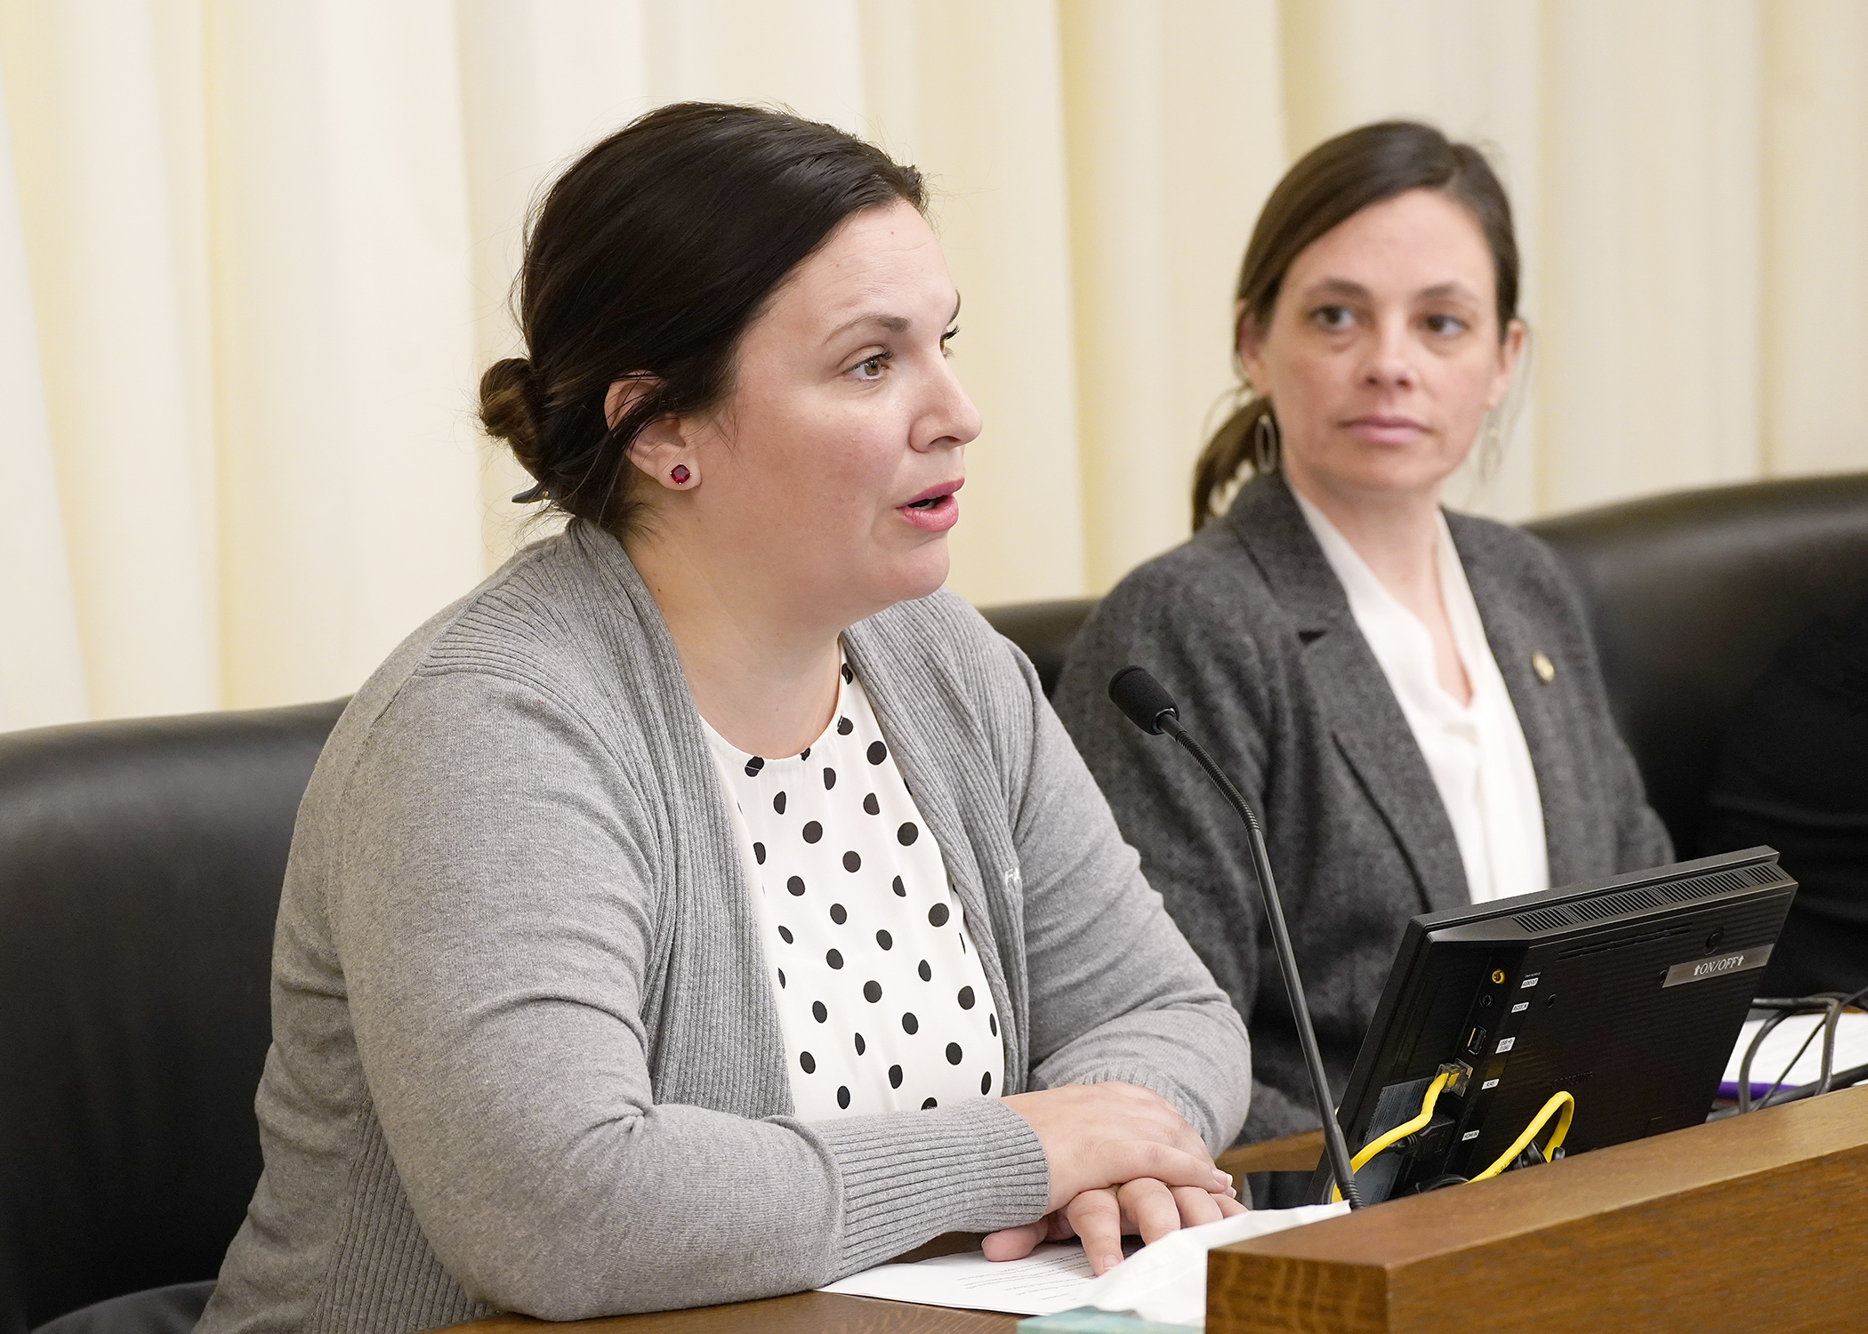
[[[1795,893],[1750,848],[1408,921],[1337,1106],[1351,1153],[1448,1082],[1356,1173],[1364,1201],[1474,1177],[1560,1091],[1564,1153],[1702,1123]],[[1311,1198],[1330,1188],[1323,1164]]]

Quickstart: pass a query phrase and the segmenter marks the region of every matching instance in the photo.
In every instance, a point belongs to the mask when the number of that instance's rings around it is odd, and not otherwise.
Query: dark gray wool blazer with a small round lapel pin
[[[1672,846],[1608,716],[1575,590],[1537,538],[1448,514],[1543,800],[1550,884],[1661,865]],[[1545,682],[1532,667],[1556,667]],[[1278,476],[1104,598],[1055,704],[1168,910],[1252,1028],[1246,1140],[1317,1125],[1238,818],[1166,738],[1110,704],[1128,663],[1252,798],[1339,1095],[1407,919],[1466,902],[1453,826],[1349,600]]]

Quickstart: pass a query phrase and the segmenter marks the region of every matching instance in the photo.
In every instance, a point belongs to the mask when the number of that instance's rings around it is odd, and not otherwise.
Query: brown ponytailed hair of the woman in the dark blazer
[[[1407,191],[1438,191],[1463,204],[1485,234],[1493,252],[1493,286],[1498,303],[1498,336],[1517,318],[1519,258],[1511,232],[1511,200],[1485,155],[1472,144],[1453,144],[1433,125],[1388,120],[1362,125],[1317,144],[1285,172],[1265,200],[1252,228],[1246,260],[1238,265],[1240,323],[1270,327],[1291,262],[1317,237],[1371,204]],[[1237,329],[1235,329],[1237,338]],[[1259,426],[1276,426],[1272,405],[1252,396],[1212,433],[1194,465],[1194,529],[1216,516],[1214,499],[1248,463],[1253,471],[1278,469],[1274,450],[1259,448]]]

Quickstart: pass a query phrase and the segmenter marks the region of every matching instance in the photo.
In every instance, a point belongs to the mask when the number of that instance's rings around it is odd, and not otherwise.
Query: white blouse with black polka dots
[[[702,719],[704,725],[704,719]],[[745,859],[798,1117],[994,1097],[1005,1043],[940,848],[848,663],[788,759],[706,727]]]

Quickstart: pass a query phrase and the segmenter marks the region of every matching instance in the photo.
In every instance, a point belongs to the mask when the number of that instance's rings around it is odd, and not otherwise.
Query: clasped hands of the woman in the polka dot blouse
[[[1044,1241],[1080,1237],[1089,1269],[1123,1259],[1123,1235],[1143,1242],[1246,1211],[1231,1179],[1166,1099],[1134,1084],[1067,1084],[1001,1099],[1044,1145],[1044,1216],[984,1241],[986,1259],[1020,1259]]]

